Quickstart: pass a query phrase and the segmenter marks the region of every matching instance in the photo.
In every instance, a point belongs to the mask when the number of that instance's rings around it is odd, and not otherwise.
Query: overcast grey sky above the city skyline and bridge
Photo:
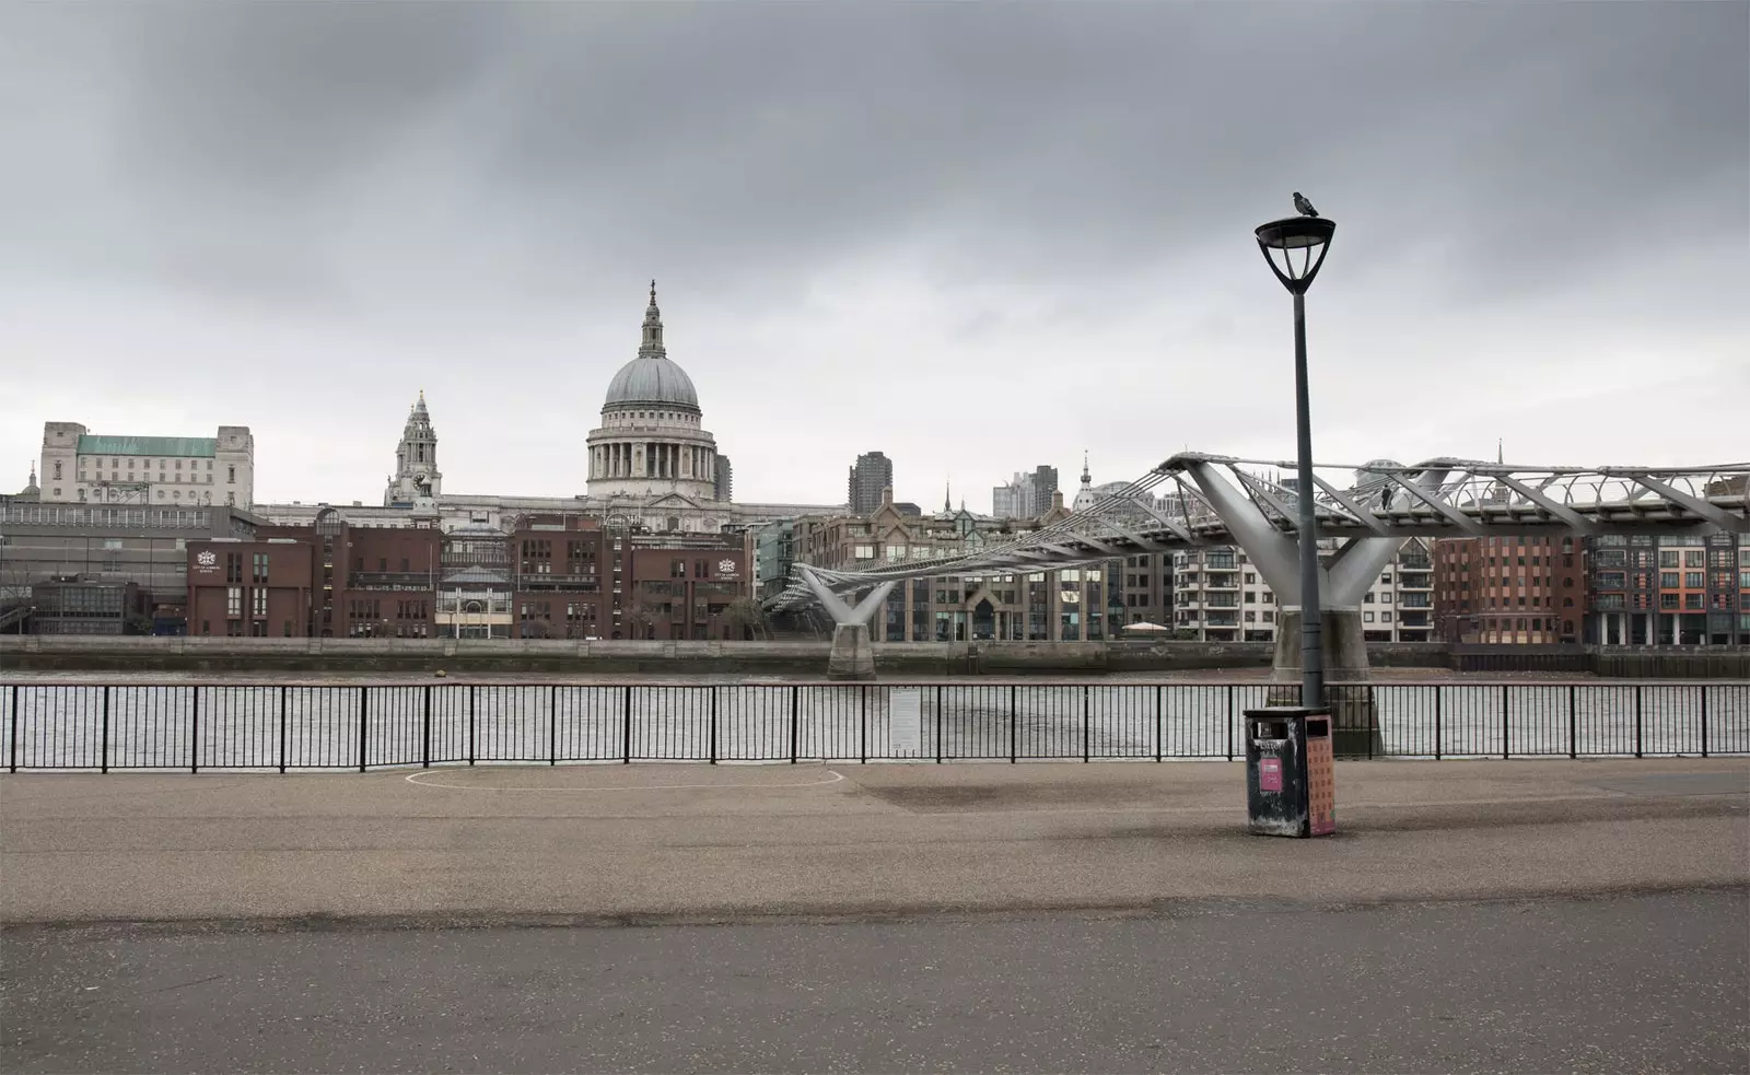
[[[1741,2],[9,4],[0,165],[7,487],[581,494],[651,277],[742,501],[1286,459],[1297,189],[1320,460],[1750,457]]]

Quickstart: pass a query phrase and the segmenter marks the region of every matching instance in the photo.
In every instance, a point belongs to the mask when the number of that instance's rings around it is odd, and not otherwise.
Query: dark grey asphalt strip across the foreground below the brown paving
[[[5,1071],[1745,1071],[1750,896],[30,926]]]

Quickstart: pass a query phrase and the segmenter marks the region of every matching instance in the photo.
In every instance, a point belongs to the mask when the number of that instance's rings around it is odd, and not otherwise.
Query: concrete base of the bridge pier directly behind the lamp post
[[[1379,758],[1386,753],[1379,735],[1379,704],[1367,665],[1367,636],[1362,609],[1320,611],[1325,653],[1325,704],[1332,716],[1332,748],[1339,758]],[[1276,658],[1270,662],[1270,706],[1300,704],[1300,609],[1284,608],[1276,623]]]

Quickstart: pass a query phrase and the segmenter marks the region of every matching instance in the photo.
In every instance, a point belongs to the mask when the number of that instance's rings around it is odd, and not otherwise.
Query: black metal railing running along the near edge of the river
[[[0,685],[7,770],[560,762],[1236,760],[1267,683]],[[1286,697],[1284,697],[1286,695]],[[1400,758],[1750,753],[1750,683],[1332,688]]]

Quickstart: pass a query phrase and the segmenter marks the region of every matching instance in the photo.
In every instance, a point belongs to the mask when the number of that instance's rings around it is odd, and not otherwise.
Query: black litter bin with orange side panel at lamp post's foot
[[[1330,709],[1246,711],[1246,821],[1255,835],[1337,832]]]

